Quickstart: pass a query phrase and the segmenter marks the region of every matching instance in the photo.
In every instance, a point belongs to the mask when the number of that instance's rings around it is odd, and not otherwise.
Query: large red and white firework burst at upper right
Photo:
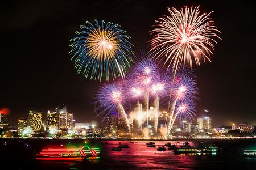
[[[180,11],[175,8],[168,8],[170,16],[164,16],[156,21],[156,28],[152,30],[154,38],[151,42],[151,51],[156,58],[165,57],[164,65],[173,65],[177,70],[185,62],[192,67],[192,62],[200,66],[203,57],[210,61],[210,54],[213,54],[213,37],[217,36],[217,27],[214,26],[210,14],[199,15],[199,6],[193,8],[185,7]],[[210,12],[211,13],[211,12]],[[163,58],[161,58],[162,60]]]

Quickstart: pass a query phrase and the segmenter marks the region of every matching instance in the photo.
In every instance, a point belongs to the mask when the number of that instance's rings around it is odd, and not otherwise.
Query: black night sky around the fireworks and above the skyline
[[[208,109],[213,126],[248,122],[256,125],[255,8],[253,1],[5,1],[1,3],[0,109],[9,122],[62,104],[79,122],[92,121],[92,97],[99,81],[77,74],[69,40],[86,20],[110,21],[131,36],[138,52],[167,7],[200,5],[222,32],[211,63],[195,67],[200,92],[197,116]],[[97,120],[100,123],[100,120]]]

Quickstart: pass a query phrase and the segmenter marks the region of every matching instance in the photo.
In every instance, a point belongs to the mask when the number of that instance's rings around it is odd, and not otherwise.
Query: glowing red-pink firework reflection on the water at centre
[[[123,148],[121,152],[108,151],[113,146],[118,146],[118,143],[127,143],[130,148]],[[149,148],[146,141],[137,141],[137,143],[129,143],[129,141],[110,141],[106,144],[106,156],[102,156],[102,162],[111,162],[115,160],[118,164],[125,164],[130,168],[160,168],[160,169],[179,169],[180,165],[188,164],[189,167],[197,163],[193,156],[199,155],[175,155],[173,151],[158,151],[158,146],[164,146],[166,141],[154,141],[156,147]],[[185,141],[184,141],[185,142]],[[180,142],[181,144],[184,142]],[[173,144],[174,142],[172,142]],[[166,147],[167,148],[167,147]]]

